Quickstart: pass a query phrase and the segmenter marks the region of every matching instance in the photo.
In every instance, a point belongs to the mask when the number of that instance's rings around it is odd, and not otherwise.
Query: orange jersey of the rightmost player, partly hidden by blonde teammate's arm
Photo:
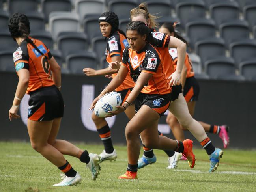
[[[169,53],[170,53],[172,61],[174,63],[174,70],[176,70],[177,60],[178,60],[177,49],[176,48],[170,48]],[[189,54],[187,54],[187,53],[186,53],[186,56],[185,56],[185,65],[187,67],[186,78],[194,76],[194,70],[193,70],[193,67],[192,67],[192,62],[189,59]]]

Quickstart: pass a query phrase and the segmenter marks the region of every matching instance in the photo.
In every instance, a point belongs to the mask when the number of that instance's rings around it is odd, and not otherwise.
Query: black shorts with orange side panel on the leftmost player
[[[43,87],[30,92],[28,100],[28,119],[51,121],[63,117],[64,102],[56,86]]]

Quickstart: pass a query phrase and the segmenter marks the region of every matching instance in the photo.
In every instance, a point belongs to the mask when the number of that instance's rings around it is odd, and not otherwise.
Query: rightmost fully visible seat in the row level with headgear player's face
[[[224,39],[227,48],[230,43],[249,38],[249,33],[249,24],[246,21],[237,20],[220,25],[220,37]]]

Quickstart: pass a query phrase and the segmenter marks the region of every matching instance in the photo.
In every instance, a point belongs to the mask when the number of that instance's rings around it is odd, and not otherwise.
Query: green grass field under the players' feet
[[[102,145],[77,144],[82,149],[101,153]],[[103,162],[101,174],[92,181],[90,171],[78,159],[67,160],[82,176],[81,185],[53,187],[61,173],[29,143],[0,142],[0,192],[114,192],[114,191],[256,191],[256,151],[225,150],[220,166],[209,174],[209,162],[203,149],[194,149],[196,166],[179,162],[176,170],[167,170],[167,156],[155,150],[157,162],[138,171],[138,180],[120,180],[127,166],[125,146],[115,146],[115,162]],[[142,153],[141,153],[142,154]]]

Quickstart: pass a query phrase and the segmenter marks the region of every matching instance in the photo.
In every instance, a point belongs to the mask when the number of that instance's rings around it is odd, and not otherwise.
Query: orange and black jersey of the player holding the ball
[[[170,93],[171,88],[166,79],[161,60],[159,52],[147,43],[139,52],[127,46],[123,51],[122,65],[128,68],[135,83],[141,72],[153,74],[141,93],[164,95]]]

